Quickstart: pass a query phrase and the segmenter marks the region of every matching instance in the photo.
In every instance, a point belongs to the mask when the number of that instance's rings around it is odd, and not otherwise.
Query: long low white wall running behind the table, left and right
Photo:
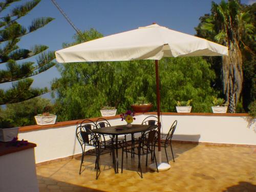
[[[140,124],[149,115],[138,115],[134,124]],[[256,123],[249,124],[247,117],[162,115],[162,132],[167,133],[174,120],[178,125],[173,140],[211,143],[256,145]],[[109,120],[111,125],[125,124],[120,118]],[[75,131],[77,125],[19,133],[19,139],[37,144],[36,163],[81,153]]]

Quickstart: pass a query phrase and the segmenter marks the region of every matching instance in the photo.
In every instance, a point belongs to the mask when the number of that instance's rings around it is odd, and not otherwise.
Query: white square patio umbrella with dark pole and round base
[[[55,55],[58,62],[155,60],[157,116],[160,134],[158,60],[162,57],[228,55],[228,48],[203,38],[153,24],[83,42],[79,45],[56,51]],[[158,169],[166,170],[169,169],[170,165],[162,163],[160,136],[158,139]],[[156,169],[154,164],[150,165],[150,167]]]

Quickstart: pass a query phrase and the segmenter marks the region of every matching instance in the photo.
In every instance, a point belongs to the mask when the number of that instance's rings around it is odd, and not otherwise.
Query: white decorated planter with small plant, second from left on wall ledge
[[[42,114],[38,114],[35,116],[36,124],[38,125],[48,125],[48,124],[55,124],[57,115],[51,114],[52,106],[45,106]]]

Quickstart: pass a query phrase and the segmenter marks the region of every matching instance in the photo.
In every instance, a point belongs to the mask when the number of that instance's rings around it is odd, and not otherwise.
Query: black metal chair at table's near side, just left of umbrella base
[[[142,169],[141,169],[141,162],[140,157],[142,155],[146,155],[146,166],[147,166],[147,156],[148,154],[154,154],[154,159],[157,167],[157,160],[156,160],[156,154],[155,151],[152,150],[151,145],[155,145],[156,138],[157,138],[157,127],[155,129],[151,130],[151,127],[149,127],[146,131],[144,131],[139,138],[138,145],[132,146],[131,143],[123,142],[122,144],[122,164],[121,164],[121,173],[123,173],[123,152],[136,154],[139,158],[139,164],[138,168],[140,169],[140,177],[142,176]],[[158,167],[157,167],[158,172]]]

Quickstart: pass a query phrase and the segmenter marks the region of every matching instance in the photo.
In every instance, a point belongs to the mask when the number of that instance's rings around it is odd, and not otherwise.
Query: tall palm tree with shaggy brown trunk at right
[[[250,14],[243,12],[240,1],[224,0],[218,5],[212,2],[211,14],[201,17],[198,36],[215,40],[229,48],[223,57],[223,92],[229,103],[229,112],[236,112],[243,83],[242,49],[248,49],[246,39],[254,40],[254,26]]]

